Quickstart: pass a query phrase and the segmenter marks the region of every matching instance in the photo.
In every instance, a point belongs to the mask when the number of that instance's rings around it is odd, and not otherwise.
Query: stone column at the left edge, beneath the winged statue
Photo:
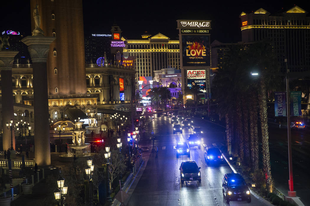
[[[12,66],[17,51],[0,51],[0,69],[2,82],[2,130],[3,150],[11,148],[11,130],[7,129],[7,123],[14,120],[13,87],[12,87]],[[15,122],[13,122],[13,125]],[[13,149],[15,150],[15,132],[12,131]],[[13,151],[14,151],[13,150]],[[14,154],[13,154],[14,153]],[[11,152],[14,158],[15,152]]]

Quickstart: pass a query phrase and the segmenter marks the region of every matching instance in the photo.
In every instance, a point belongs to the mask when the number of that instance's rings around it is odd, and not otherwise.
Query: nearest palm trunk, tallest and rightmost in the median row
[[[262,153],[263,153],[263,172],[265,174],[266,189],[272,192],[272,180],[270,169],[270,153],[269,153],[269,134],[267,120],[267,102],[266,102],[266,85],[263,78],[260,80],[260,90],[258,93],[259,115],[262,131]]]

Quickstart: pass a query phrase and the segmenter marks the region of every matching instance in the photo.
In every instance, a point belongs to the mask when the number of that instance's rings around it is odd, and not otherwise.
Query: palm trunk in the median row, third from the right
[[[243,110],[243,146],[244,146],[244,157],[245,164],[249,166],[250,162],[250,148],[249,148],[249,108],[247,99],[242,98],[242,110]]]

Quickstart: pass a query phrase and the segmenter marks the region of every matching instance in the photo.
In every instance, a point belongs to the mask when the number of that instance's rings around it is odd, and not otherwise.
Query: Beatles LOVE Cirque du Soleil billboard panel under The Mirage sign
[[[211,66],[210,36],[182,35],[183,66]]]

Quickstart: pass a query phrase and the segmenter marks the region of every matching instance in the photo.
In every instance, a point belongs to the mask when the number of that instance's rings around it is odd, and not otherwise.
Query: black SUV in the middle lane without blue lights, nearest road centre
[[[201,183],[200,167],[197,166],[195,161],[182,162],[180,166],[181,184],[184,181],[199,181]]]

